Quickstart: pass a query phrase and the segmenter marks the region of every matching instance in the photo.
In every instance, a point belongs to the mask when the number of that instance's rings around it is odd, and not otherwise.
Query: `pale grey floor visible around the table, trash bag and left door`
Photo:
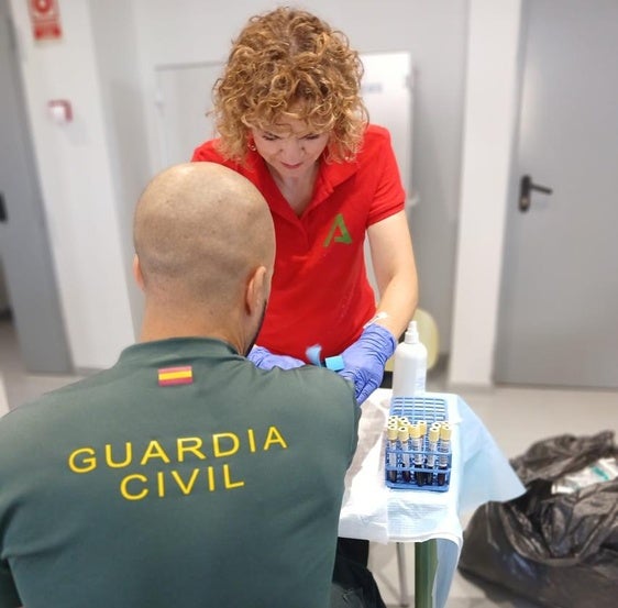
[[[13,325],[0,319],[0,369],[4,377],[9,407],[36,397],[41,393],[73,382],[74,377],[34,376],[20,361]],[[1,380],[1,378],[0,378]],[[428,389],[450,390],[441,369],[432,371]],[[594,434],[614,430],[618,434],[618,391],[560,390],[533,387],[495,387],[456,390],[481,417],[498,445],[508,456],[526,451],[534,441],[561,433]],[[0,382],[0,414],[5,407]],[[470,513],[468,516],[470,517]],[[465,520],[464,520],[465,521]],[[413,545],[407,544],[409,583],[413,584]],[[388,606],[399,606],[395,545],[372,544],[369,566]],[[413,598],[410,598],[413,605]],[[455,575],[446,608],[531,608],[533,605],[500,589],[481,587]]]

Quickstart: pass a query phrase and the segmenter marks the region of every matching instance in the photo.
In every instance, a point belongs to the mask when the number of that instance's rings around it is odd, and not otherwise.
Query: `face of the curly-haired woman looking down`
[[[330,136],[329,131],[316,133],[306,122],[293,118],[280,118],[251,133],[260,156],[283,178],[312,174]]]

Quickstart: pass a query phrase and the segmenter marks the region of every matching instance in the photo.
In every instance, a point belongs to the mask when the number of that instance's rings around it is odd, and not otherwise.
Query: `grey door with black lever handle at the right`
[[[495,380],[618,387],[618,2],[525,1],[522,36]]]

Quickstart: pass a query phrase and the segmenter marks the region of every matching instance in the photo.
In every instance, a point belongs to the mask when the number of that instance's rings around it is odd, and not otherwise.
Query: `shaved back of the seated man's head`
[[[275,235],[264,198],[218,164],[177,165],[154,177],[137,202],[133,237],[146,303],[178,314],[238,306],[251,274],[263,266],[269,280],[273,268]]]

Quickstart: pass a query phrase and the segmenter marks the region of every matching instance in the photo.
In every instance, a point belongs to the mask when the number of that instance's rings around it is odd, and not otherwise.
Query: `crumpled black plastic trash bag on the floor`
[[[618,607],[618,478],[552,494],[564,475],[616,456],[611,431],[534,443],[511,461],[526,494],[474,512],[460,571],[541,606]]]

